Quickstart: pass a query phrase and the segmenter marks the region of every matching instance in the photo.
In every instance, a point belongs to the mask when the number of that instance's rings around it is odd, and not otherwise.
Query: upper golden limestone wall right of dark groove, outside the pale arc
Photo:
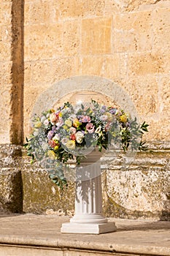
[[[150,124],[147,140],[169,140],[169,7],[154,0],[25,1],[25,134],[42,91],[64,78],[97,75],[130,95]]]

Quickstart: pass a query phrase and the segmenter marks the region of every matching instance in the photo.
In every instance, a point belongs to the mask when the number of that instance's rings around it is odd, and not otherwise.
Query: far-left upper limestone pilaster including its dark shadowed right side
[[[0,1],[0,143],[23,142],[23,1]]]

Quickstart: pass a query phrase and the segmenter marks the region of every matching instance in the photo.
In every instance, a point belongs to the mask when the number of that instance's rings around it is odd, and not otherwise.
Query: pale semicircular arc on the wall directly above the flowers
[[[76,95],[84,100],[95,99],[104,105],[114,104],[131,114],[132,118],[138,118],[134,103],[121,86],[112,80],[90,75],[74,76],[54,83],[39,95],[32,115],[39,115],[42,111],[55,108],[70,99],[72,101]]]

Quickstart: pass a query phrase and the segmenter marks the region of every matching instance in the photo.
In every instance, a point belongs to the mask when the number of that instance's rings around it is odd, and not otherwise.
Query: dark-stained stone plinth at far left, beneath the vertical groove
[[[0,145],[0,212],[23,211],[20,146]]]

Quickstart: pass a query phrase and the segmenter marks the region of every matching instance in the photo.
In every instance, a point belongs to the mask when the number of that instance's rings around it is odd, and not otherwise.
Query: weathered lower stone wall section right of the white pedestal
[[[104,213],[121,218],[169,220],[170,151],[153,144],[152,153],[140,153],[131,165],[109,153],[104,159]]]

